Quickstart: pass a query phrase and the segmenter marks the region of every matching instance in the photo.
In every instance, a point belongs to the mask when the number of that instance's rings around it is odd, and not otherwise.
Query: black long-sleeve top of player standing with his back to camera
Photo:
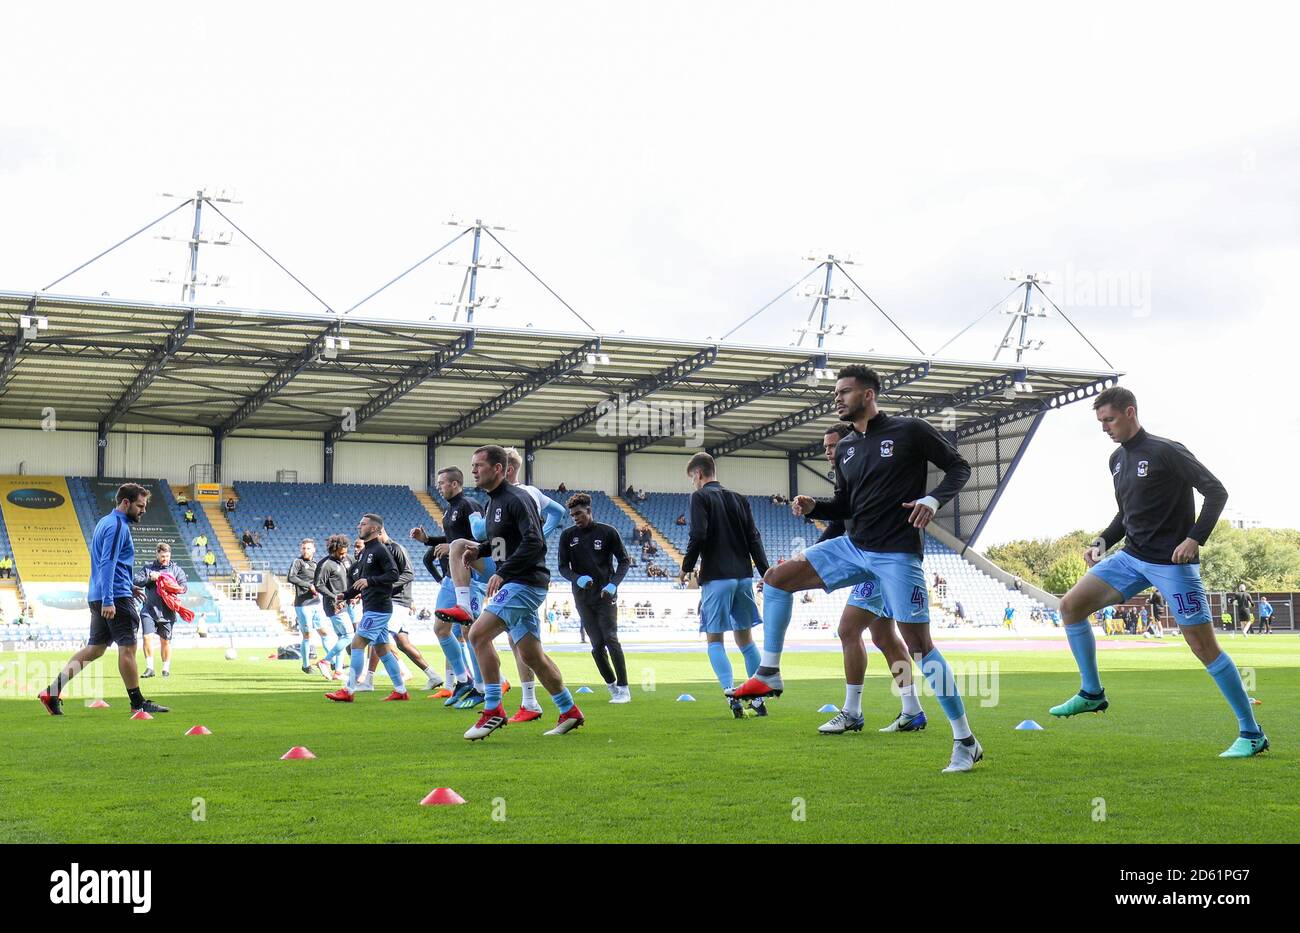
[[[754,526],[749,499],[712,479],[690,494],[690,539],[681,572],[699,560],[699,582],[749,580],[767,573],[763,539]]]

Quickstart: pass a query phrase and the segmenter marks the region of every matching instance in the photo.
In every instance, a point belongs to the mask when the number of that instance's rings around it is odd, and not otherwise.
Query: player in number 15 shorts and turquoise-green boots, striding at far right
[[[1088,616],[1154,586],[1173,611],[1187,647],[1236,716],[1238,737],[1219,758],[1258,755],[1269,748],[1269,739],[1254,721],[1240,672],[1218,646],[1201,583],[1201,546],[1227,504],[1227,490],[1180,443],[1145,431],[1138,422],[1138,399],[1127,389],[1105,390],[1092,408],[1101,430],[1119,444],[1110,455],[1119,511],[1084,552],[1088,573],[1061,598],[1061,621],[1082,686],[1050,712],[1069,717],[1110,706],[1097,673],[1097,643]],[[1205,496],[1199,517],[1193,489]],[[1123,550],[1106,556],[1121,538]]]

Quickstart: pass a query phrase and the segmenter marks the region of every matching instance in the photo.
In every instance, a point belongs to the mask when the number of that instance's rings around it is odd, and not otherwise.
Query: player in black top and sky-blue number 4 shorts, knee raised
[[[867,366],[845,366],[836,374],[836,413],[853,425],[853,434],[836,446],[835,496],[796,496],[790,509],[797,516],[840,518],[845,534],[819,542],[764,574],[762,665],[733,695],[780,697],[781,650],[794,593],[862,585],[866,615],[898,621],[907,651],[920,658],[922,673],[953,728],[953,754],[944,772],[971,771],[984,750],[966,720],[953,671],[930,637],[930,596],[922,567],[926,525],[966,485],[971,469],[924,420],[881,412],[879,394],[880,377]],[[927,494],[930,464],[941,469],[944,478]],[[861,728],[861,713],[853,715],[854,694],[861,702],[861,684],[845,685],[848,711],[841,708],[820,729],[823,734]]]

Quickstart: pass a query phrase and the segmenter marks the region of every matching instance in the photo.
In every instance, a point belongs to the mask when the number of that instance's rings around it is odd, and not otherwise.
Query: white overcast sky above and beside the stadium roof
[[[1145,425],[1187,443],[1230,508],[1300,526],[1270,482],[1300,454],[1286,9],[8,4],[0,287],[47,285],[202,185],[234,188],[231,218],[335,308],[445,242],[452,214],[510,227],[603,331],[716,338],[822,248],[852,252],[935,351],[1005,273],[1050,270]],[[150,278],[185,261],[144,236],[56,291],[174,300]],[[246,244],[202,266],[231,277],[204,300],[318,307]],[[478,321],[580,326],[510,266],[485,273],[502,304]],[[1136,290],[1097,301],[1098,275]],[[447,320],[434,303],[459,282],[429,264],[363,312]],[[733,339],[788,343],[807,304]],[[836,346],[907,350],[864,301],[838,305]],[[1005,325],[945,355],[987,359]],[[1035,333],[1031,359],[1101,365],[1060,321]],[[1087,407],[1049,416],[980,543],[1104,525],[1109,450]]]

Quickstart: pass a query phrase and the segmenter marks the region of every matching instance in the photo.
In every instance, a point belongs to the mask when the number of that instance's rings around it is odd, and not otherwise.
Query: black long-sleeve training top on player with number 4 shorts
[[[927,464],[944,470],[928,494]],[[818,499],[812,517],[844,520],[863,551],[922,554],[922,531],[902,504],[931,495],[942,508],[970,476],[970,464],[930,422],[880,412],[866,433],[854,431],[835,448],[835,496]]]

